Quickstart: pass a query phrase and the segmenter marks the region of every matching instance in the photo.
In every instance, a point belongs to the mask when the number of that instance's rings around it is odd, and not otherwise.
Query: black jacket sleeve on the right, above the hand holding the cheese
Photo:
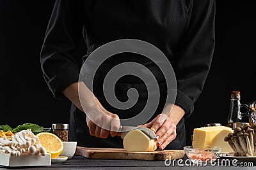
[[[194,103],[204,87],[215,45],[215,0],[186,0],[188,26],[180,40],[173,69],[177,79],[175,104],[194,110]]]

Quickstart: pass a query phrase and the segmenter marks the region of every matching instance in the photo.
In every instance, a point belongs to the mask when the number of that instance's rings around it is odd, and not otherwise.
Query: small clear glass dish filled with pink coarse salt
[[[220,146],[185,146],[184,152],[192,162],[214,162],[221,157]]]

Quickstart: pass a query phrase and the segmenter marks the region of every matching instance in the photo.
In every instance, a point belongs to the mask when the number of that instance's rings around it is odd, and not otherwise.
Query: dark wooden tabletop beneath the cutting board
[[[166,166],[170,162],[164,163],[164,160],[161,161],[148,161],[148,160],[110,160],[110,159],[86,159],[82,156],[74,156],[72,159],[69,159],[61,164],[52,164],[47,167],[15,167],[10,169],[255,169],[254,167],[241,167],[240,164],[237,166],[211,166],[211,164],[205,165],[192,165],[186,166],[187,158],[184,157],[180,159],[179,164],[178,160],[175,160],[175,163],[171,162],[170,166]],[[189,164],[189,161],[187,161]],[[183,166],[180,166],[183,165]],[[3,166],[0,166],[0,169],[6,169]]]

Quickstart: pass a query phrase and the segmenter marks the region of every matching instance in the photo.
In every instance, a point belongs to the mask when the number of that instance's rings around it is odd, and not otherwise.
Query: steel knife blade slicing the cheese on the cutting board
[[[121,138],[124,139],[124,137],[132,130],[138,129],[141,132],[145,133],[150,139],[157,139],[156,134],[148,129],[147,127],[135,127],[135,126],[120,126],[118,132],[121,134]]]

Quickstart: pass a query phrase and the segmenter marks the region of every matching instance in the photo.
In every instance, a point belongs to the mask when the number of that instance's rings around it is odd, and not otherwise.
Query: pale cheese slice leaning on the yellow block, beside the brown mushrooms
[[[228,129],[222,129],[214,138],[212,138],[211,145],[220,146],[221,152],[233,152],[232,148],[228,145],[228,142],[224,141],[224,138],[228,136],[232,131]]]

